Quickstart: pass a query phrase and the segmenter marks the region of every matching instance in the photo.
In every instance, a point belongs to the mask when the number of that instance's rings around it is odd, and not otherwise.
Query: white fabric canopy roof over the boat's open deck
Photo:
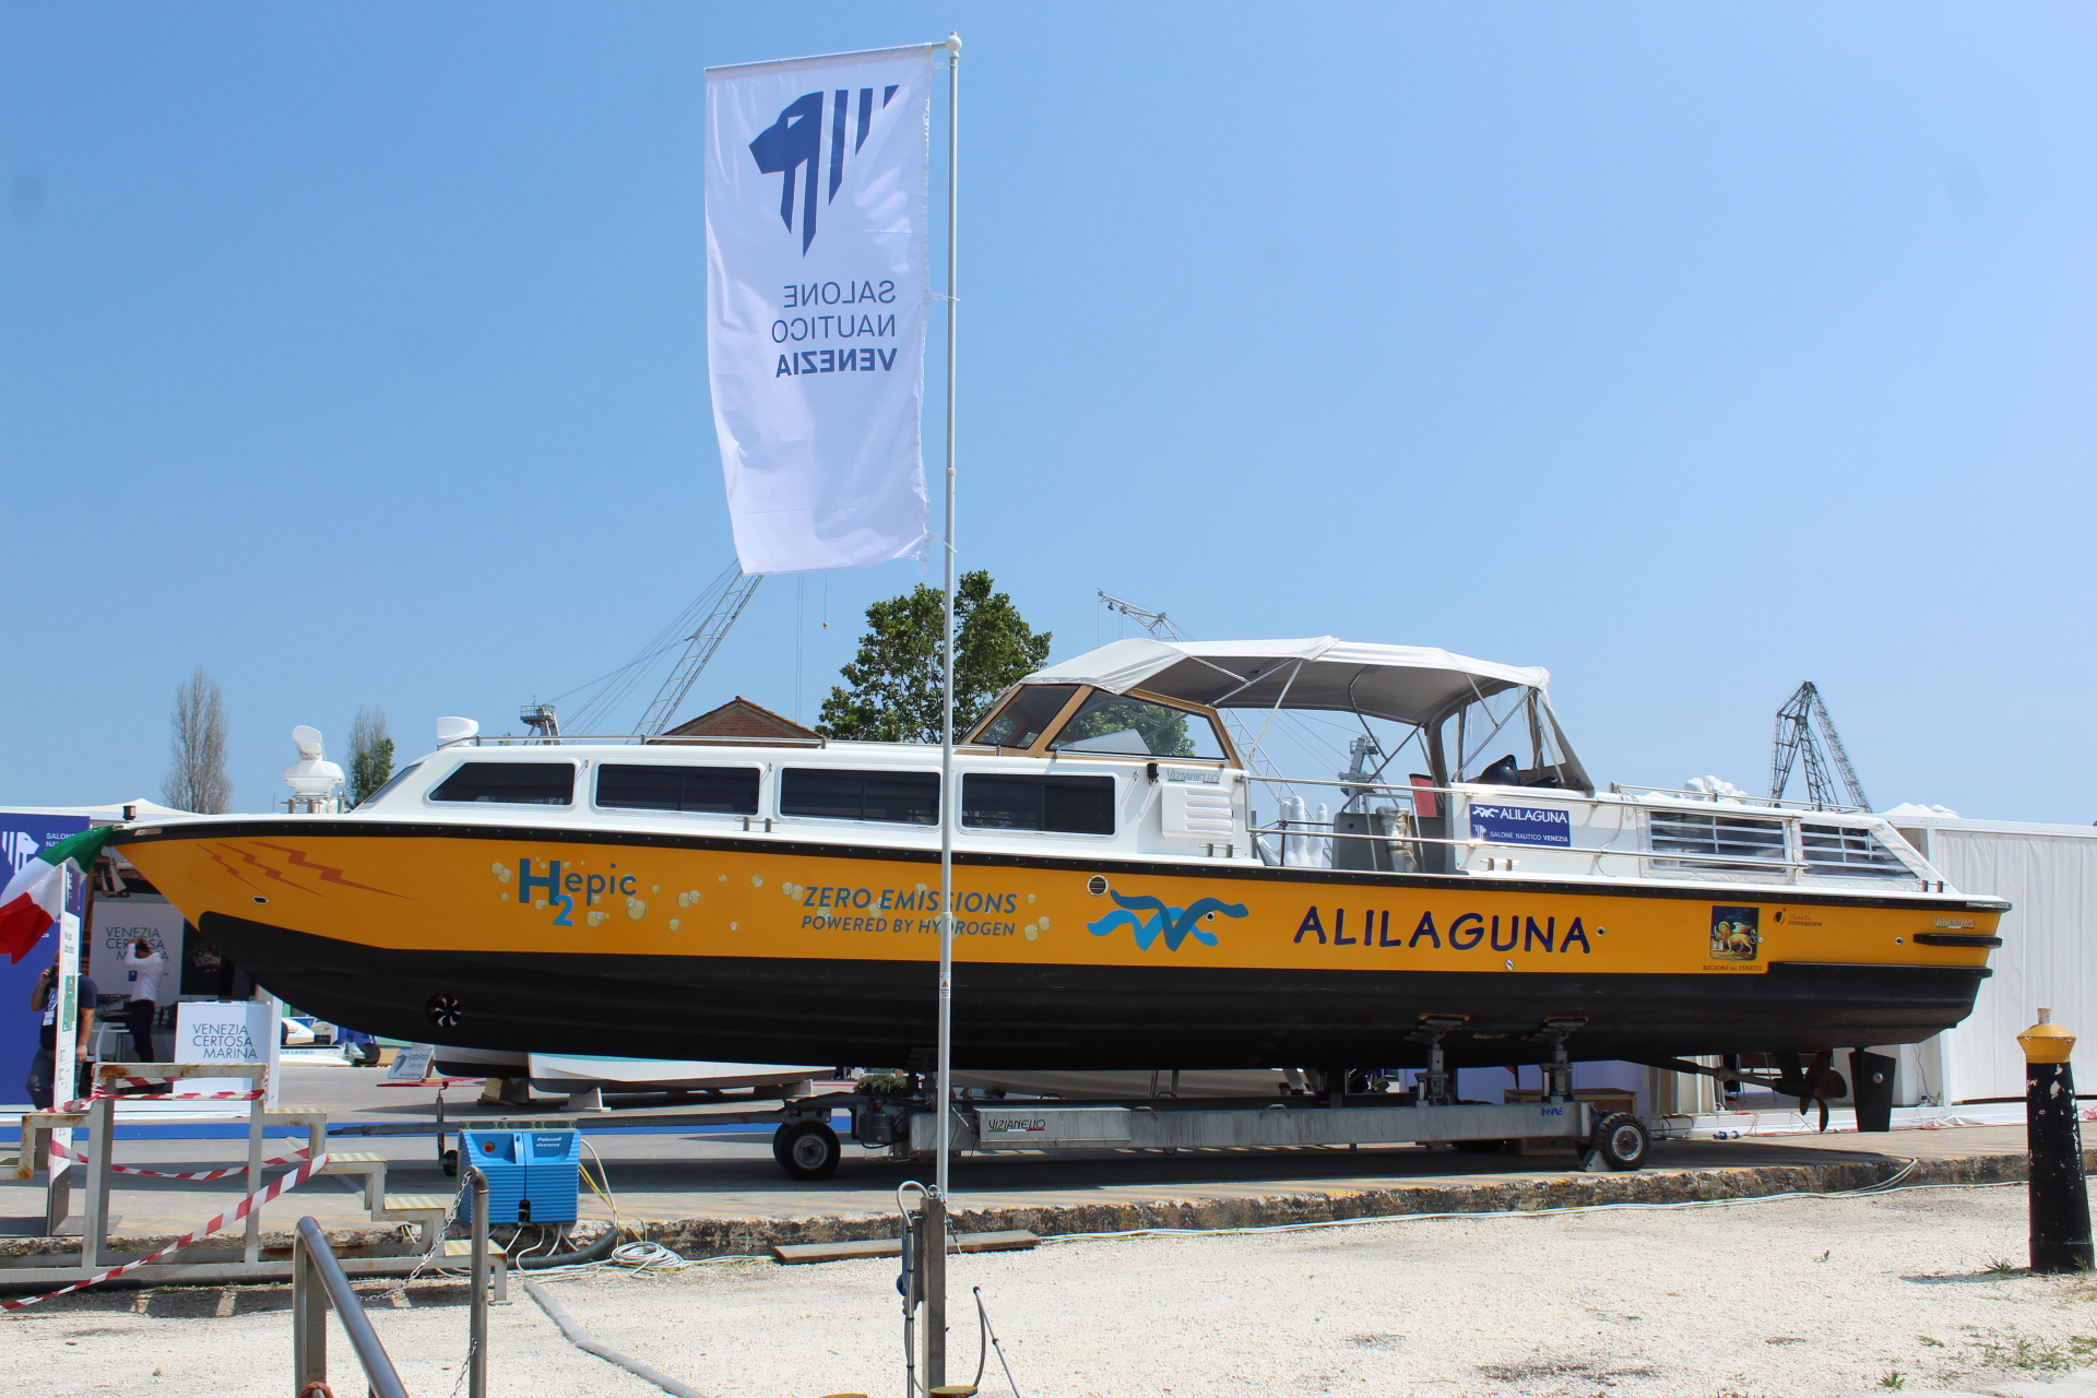
[[[1371,646],[1317,635],[1298,641],[1114,641],[1021,683],[1147,690],[1212,708],[1329,708],[1430,723],[1506,690],[1550,692],[1537,664],[1493,664],[1436,646]]]

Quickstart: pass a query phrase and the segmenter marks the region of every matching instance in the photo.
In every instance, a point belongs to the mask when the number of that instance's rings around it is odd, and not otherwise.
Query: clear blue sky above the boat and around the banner
[[[197,664],[266,809],[631,658],[732,551],[702,69],[948,29],[963,558],[1057,654],[1548,664],[1602,780],[1751,790],[1814,679],[1881,807],[2097,815],[2059,4],[6,4],[0,803],[155,794]],[[765,583],[688,713],[814,719],[918,576]]]

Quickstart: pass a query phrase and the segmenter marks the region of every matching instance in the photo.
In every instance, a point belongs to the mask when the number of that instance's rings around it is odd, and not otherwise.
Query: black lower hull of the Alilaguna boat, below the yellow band
[[[512,1052],[902,1067],[933,1042],[927,962],[390,952],[206,914],[201,933],[302,1012],[367,1033]],[[1988,970],[1778,962],[1764,975],[1522,975],[954,966],[969,1069],[1420,1067],[1424,1014],[1468,1014],[1451,1067],[1912,1044]],[[449,998],[457,1021],[438,1025]]]

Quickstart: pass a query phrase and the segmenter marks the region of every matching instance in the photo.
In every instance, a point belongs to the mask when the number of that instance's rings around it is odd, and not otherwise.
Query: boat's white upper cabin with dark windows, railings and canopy
[[[1319,711],[1348,767],[1277,771],[1275,719]],[[1548,671],[1432,648],[1116,641],[1000,694],[954,782],[963,853],[1954,893],[1868,811],[1596,788]],[[933,746],[468,736],[350,820],[937,849],[944,809]]]

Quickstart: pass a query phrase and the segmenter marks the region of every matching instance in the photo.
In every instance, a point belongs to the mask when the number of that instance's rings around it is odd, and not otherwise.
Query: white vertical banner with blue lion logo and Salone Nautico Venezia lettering
[[[931,46],[707,69],[707,375],[742,572],[925,558]]]

